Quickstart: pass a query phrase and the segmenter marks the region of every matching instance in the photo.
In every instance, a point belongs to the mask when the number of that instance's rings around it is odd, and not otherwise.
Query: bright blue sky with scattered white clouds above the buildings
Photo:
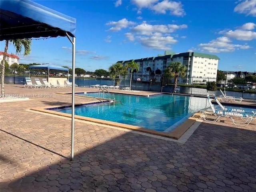
[[[201,52],[218,69],[256,71],[256,0],[34,0],[76,18],[76,68],[108,70],[120,60]],[[33,39],[20,63],[72,67],[68,38]],[[0,42],[4,51],[4,41]],[[15,53],[9,46],[8,53]]]

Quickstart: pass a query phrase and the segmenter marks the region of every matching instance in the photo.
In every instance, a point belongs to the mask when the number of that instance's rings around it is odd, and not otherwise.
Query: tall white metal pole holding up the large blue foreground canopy
[[[71,116],[71,154],[70,160],[74,160],[74,126],[75,126],[75,49],[76,49],[76,38],[73,37],[73,41],[66,33],[67,38],[72,43],[72,116]]]

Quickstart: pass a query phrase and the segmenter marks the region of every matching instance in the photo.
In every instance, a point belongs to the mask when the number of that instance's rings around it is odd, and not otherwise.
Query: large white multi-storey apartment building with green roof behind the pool
[[[216,81],[218,61],[220,58],[212,54],[204,54],[197,52],[185,52],[176,54],[175,52],[165,51],[164,55],[158,54],[157,57],[148,57],[135,59],[140,66],[137,75],[140,75],[142,81],[149,80],[149,74],[153,74],[156,81],[164,73],[164,69],[170,65],[171,62],[180,61],[186,66],[186,77],[179,78],[183,83],[202,83],[203,81]],[[118,61],[125,65],[128,61]]]

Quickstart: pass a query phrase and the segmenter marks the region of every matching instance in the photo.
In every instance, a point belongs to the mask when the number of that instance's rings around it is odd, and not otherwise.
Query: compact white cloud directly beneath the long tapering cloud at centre
[[[139,41],[143,46],[148,47],[148,48],[153,48],[156,50],[169,50],[170,44],[174,44],[174,43],[178,42],[171,36],[140,37]]]

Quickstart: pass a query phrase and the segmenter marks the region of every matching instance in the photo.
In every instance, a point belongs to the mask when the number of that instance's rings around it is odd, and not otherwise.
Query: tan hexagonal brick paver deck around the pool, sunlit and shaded
[[[55,94],[70,90],[6,85],[6,94],[52,97],[0,103],[1,192],[256,191],[256,121],[246,128],[202,122],[179,144],[76,120],[71,162],[70,119],[28,111],[70,104]]]

